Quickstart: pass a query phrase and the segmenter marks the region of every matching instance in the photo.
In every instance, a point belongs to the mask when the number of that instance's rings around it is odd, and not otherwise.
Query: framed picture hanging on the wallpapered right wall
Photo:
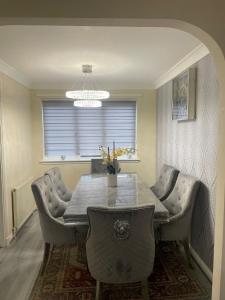
[[[190,68],[173,79],[172,119],[194,120],[196,69]]]

